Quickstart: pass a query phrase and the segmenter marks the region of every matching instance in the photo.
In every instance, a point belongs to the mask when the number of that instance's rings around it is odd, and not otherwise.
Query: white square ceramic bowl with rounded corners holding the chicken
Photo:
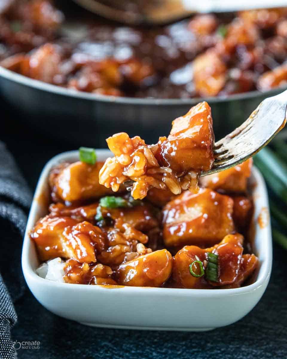
[[[97,150],[98,160],[111,155]],[[22,252],[25,280],[36,299],[58,316],[86,325],[149,330],[204,331],[226,326],[244,317],[262,297],[272,267],[272,237],[267,190],[264,180],[253,168],[254,252],[259,258],[257,280],[235,289],[175,289],[150,287],[105,287],[57,283],[39,277],[36,248],[29,231],[47,214],[48,174],[53,166],[79,160],[78,151],[53,157],[44,167],[30,209]],[[267,222],[259,225],[259,215]]]

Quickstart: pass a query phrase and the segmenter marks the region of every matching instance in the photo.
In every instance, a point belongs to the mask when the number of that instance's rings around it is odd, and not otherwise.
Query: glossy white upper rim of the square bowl
[[[104,160],[103,158],[109,157],[111,152],[106,149],[96,149],[98,154],[98,160]],[[52,157],[44,166],[40,176],[39,181],[34,192],[34,197],[32,201],[32,205],[30,208],[30,213],[28,216],[28,222],[25,230],[23,247],[22,247],[22,270],[27,284],[33,282],[37,283],[39,286],[56,287],[59,290],[65,288],[65,290],[95,290],[95,291],[103,291],[103,290],[111,290],[116,289],[118,291],[124,291],[125,293],[133,293],[140,294],[143,291],[149,290],[151,294],[155,295],[173,295],[175,297],[189,296],[193,295],[196,297],[206,298],[208,296],[212,297],[222,297],[222,296],[232,296],[232,295],[241,295],[253,292],[263,285],[267,285],[270,279],[271,269],[272,269],[272,234],[271,234],[271,221],[270,221],[270,212],[269,212],[269,203],[268,203],[268,195],[267,188],[264,182],[264,179],[261,173],[258,171],[256,167],[252,169],[252,176],[255,180],[255,186],[253,188],[253,196],[255,197],[254,201],[257,201],[257,197],[261,199],[263,202],[263,206],[267,208],[268,211],[268,224],[264,228],[260,228],[258,221],[255,223],[255,233],[260,229],[260,252],[259,257],[260,269],[258,272],[257,280],[247,286],[243,286],[240,288],[231,288],[231,289],[186,289],[186,288],[154,288],[154,287],[136,287],[136,286],[113,286],[113,288],[104,285],[86,285],[86,284],[74,284],[74,283],[59,283],[55,281],[50,281],[44,278],[41,278],[36,274],[33,270],[32,265],[29,261],[30,255],[30,247],[34,245],[31,239],[29,238],[29,231],[33,228],[36,220],[38,220],[39,216],[37,215],[38,211],[38,198],[41,197],[43,193],[43,188],[47,185],[47,177],[50,172],[50,169],[58,163],[61,162],[72,162],[79,160],[79,154],[77,150],[67,151]],[[261,208],[263,208],[261,206]],[[257,206],[255,205],[255,210]],[[263,251],[262,251],[263,248]],[[262,258],[263,257],[263,258]],[[113,291],[112,291],[113,292]],[[146,293],[146,292],[145,292]]]

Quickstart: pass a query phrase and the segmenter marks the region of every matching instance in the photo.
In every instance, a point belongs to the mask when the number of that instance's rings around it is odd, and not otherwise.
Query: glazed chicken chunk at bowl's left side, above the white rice
[[[39,257],[47,261],[56,257],[75,259],[80,263],[96,262],[106,244],[99,227],[70,217],[46,216],[39,220],[30,233]]]

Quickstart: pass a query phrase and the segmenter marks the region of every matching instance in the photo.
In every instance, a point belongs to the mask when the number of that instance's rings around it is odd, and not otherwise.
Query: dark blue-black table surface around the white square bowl
[[[0,104],[3,110],[0,140],[6,143],[29,186],[34,190],[47,160],[62,151],[75,149],[75,146],[72,143],[60,143],[47,138],[44,132],[34,132],[25,124],[25,119],[17,118],[13,109]],[[5,238],[1,240],[4,241]],[[19,242],[19,248],[21,246],[22,243]],[[15,303],[18,323],[12,330],[12,336],[13,340],[17,341],[40,341],[40,349],[19,349],[18,357],[286,359],[286,256],[287,252],[274,244],[272,276],[260,302],[239,322],[210,332],[159,332],[86,327],[48,312],[27,288],[24,296]],[[9,271],[9,268],[7,270]],[[196,308],[190,308],[191,312],[194,310]]]

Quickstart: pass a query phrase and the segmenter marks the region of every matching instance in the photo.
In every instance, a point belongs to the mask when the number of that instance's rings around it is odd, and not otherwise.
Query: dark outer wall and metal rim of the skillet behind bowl
[[[205,98],[212,109],[217,138],[248,118],[264,98],[282,92],[253,91],[228,98]],[[105,147],[105,138],[120,131],[141,135],[148,143],[169,133],[171,121],[203,101],[101,96],[47,84],[0,67],[0,97],[27,123],[47,137],[74,145]]]

